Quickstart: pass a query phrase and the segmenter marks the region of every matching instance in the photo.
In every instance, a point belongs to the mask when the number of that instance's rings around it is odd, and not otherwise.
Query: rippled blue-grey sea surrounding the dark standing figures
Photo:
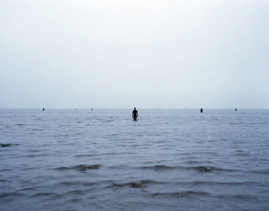
[[[269,210],[269,110],[0,109],[0,210]]]

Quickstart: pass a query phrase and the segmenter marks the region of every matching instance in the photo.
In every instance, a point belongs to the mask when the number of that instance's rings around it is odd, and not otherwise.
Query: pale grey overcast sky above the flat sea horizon
[[[265,0],[0,0],[0,108],[269,108]]]

